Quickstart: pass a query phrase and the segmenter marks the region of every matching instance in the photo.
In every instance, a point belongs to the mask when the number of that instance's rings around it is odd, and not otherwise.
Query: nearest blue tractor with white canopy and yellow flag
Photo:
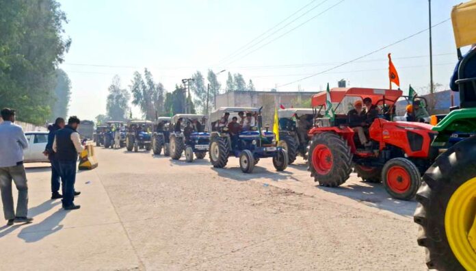
[[[261,108],[220,107],[210,114],[209,122],[213,167],[224,168],[228,157],[237,157],[244,173],[252,172],[261,158],[272,158],[278,171],[287,168],[287,151],[276,144],[274,133],[263,130]]]

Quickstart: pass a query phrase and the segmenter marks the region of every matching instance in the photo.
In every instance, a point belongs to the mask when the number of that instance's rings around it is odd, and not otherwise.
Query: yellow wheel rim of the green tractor
[[[476,270],[476,177],[461,185],[449,199],[445,231],[456,259],[466,270]]]

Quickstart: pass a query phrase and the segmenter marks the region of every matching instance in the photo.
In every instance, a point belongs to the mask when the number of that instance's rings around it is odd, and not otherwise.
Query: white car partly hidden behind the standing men
[[[28,140],[28,149],[23,150],[23,162],[38,163],[48,162],[49,159],[43,154],[48,143],[47,131],[25,132]]]

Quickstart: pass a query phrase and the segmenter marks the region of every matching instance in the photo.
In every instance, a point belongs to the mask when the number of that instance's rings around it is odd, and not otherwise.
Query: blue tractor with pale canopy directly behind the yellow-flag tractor
[[[193,162],[194,155],[203,159],[207,155],[210,133],[205,131],[207,116],[176,114],[170,120],[170,157],[180,159],[185,152],[185,161]]]

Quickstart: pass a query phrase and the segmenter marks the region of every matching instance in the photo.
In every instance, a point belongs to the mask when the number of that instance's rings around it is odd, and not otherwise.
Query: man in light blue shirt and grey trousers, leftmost
[[[2,109],[1,118],[3,122],[0,123],[0,190],[3,214],[9,226],[14,222],[29,223],[33,218],[27,218],[28,185],[23,166],[23,149],[28,148],[28,141],[23,129],[14,125],[14,110]],[[18,190],[16,213],[13,204],[12,179]]]

